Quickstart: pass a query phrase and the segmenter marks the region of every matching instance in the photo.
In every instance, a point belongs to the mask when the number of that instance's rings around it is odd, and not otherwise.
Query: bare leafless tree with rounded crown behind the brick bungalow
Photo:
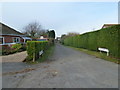
[[[42,27],[38,22],[31,22],[24,27],[24,33],[30,35],[31,37],[35,37],[35,35],[37,35],[41,29]]]

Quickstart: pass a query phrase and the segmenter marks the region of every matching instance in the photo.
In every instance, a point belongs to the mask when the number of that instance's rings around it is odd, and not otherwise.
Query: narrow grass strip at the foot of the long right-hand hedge
[[[120,64],[119,59],[116,59],[116,58],[111,57],[111,56],[107,56],[107,54],[104,53],[104,52],[100,53],[100,52],[97,52],[97,51],[90,51],[88,49],[83,49],[83,48],[75,48],[75,47],[71,47],[71,46],[67,46],[67,47],[73,48],[73,49],[78,50],[78,51],[82,51],[82,52],[87,53],[89,55],[93,55],[97,58],[101,58],[101,59],[104,59],[104,60],[107,60],[107,61],[110,61],[110,62]]]

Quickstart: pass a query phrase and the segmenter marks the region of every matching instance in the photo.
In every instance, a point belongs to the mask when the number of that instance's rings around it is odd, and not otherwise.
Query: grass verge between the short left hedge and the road
[[[27,61],[27,64],[37,64],[37,63],[41,63],[46,61],[54,52],[54,48],[55,45],[51,46],[50,48],[48,48],[42,55],[42,57],[40,57],[38,60],[36,60],[35,62],[33,61]]]

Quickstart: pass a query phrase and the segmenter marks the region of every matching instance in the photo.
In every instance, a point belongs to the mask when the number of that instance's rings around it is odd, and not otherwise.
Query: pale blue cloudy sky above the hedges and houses
[[[1,4],[0,4],[1,5]],[[1,20],[1,19],[0,19]],[[1,22],[23,31],[32,21],[56,35],[98,30],[103,24],[118,23],[117,2],[6,2],[2,3]]]

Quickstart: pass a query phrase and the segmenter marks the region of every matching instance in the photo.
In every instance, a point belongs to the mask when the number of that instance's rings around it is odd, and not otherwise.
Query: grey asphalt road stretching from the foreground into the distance
[[[117,64],[59,44],[53,56],[35,70],[3,76],[3,88],[117,87]]]

